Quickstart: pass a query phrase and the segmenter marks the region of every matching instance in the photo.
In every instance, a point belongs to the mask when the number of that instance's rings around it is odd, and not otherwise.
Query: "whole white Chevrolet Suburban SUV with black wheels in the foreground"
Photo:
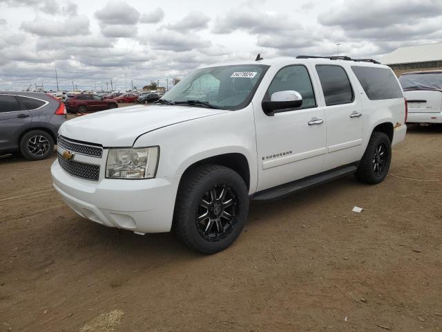
[[[373,60],[214,64],[153,106],[65,122],[53,184],[86,219],[137,234],[175,230],[210,254],[238,237],[250,200],[350,173],[383,181],[405,116],[396,76]]]

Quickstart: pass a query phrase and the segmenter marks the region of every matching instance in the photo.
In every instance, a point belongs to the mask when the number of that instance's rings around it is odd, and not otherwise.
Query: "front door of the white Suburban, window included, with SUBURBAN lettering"
[[[265,100],[278,91],[298,91],[302,107],[274,116],[265,115],[261,104],[253,104],[258,150],[258,188],[288,183],[323,170],[326,130],[323,109],[316,106],[314,89],[305,66],[287,66],[276,73]],[[316,118],[316,121],[312,122]],[[310,122],[310,124],[309,124]]]

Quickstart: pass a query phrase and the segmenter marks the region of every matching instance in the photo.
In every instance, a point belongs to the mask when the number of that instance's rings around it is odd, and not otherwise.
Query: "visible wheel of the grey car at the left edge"
[[[52,151],[54,151],[54,140],[46,131],[29,131],[20,140],[20,152],[28,160],[46,159]]]

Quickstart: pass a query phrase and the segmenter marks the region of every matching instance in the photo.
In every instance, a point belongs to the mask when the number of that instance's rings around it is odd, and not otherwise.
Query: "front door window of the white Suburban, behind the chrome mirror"
[[[313,86],[305,66],[289,66],[282,68],[273,78],[265,99],[270,100],[271,95],[278,91],[294,90],[302,96],[302,107],[316,106]]]

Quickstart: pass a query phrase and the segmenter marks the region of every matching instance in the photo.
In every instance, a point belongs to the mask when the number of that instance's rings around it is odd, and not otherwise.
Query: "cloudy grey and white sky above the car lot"
[[[0,0],[0,90],[128,89],[201,64],[442,42],[441,0]],[[110,84],[109,84],[110,86]]]

